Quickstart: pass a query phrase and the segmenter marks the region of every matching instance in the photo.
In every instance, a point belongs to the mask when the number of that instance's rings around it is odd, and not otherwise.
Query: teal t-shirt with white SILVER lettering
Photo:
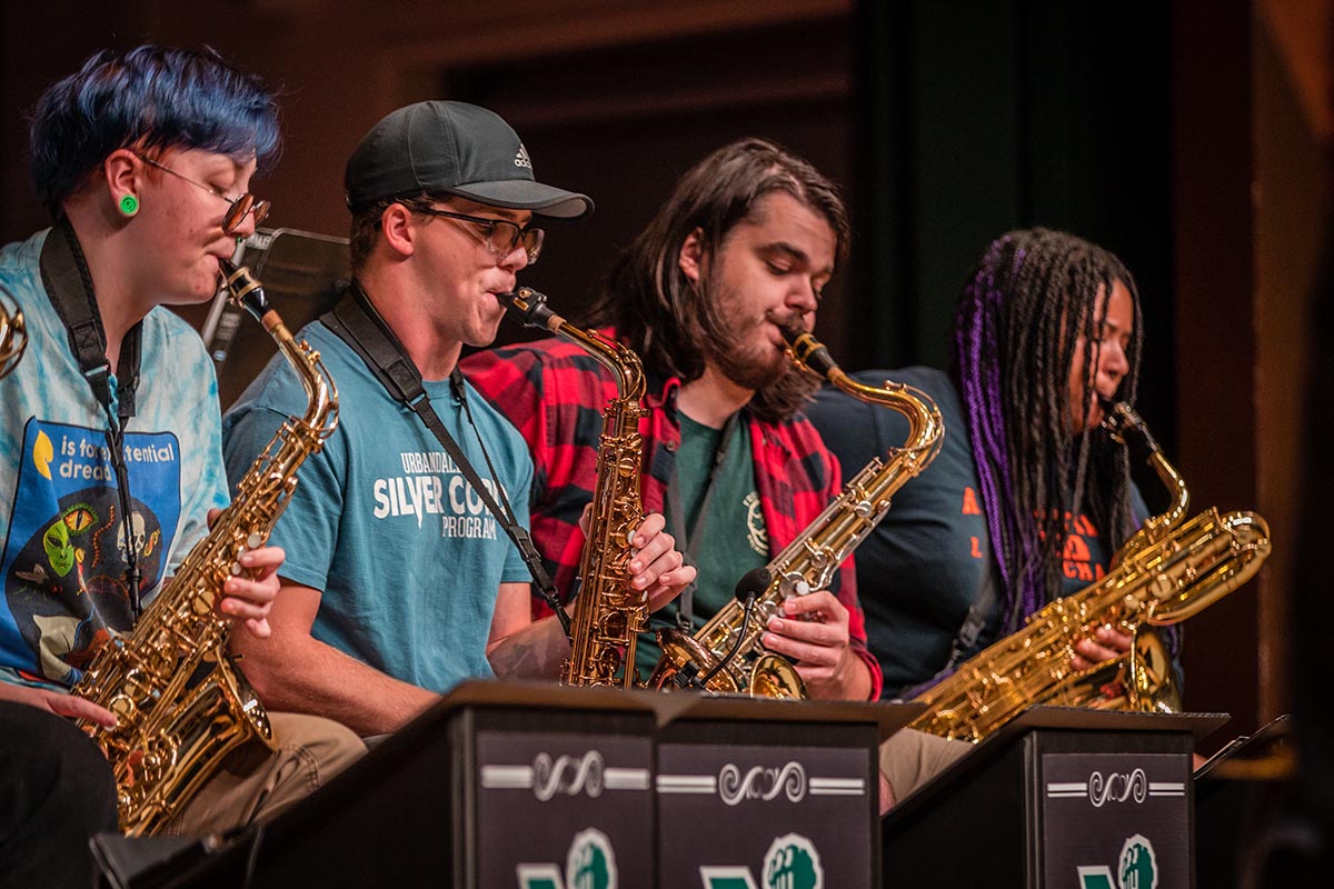
[[[272,536],[287,550],[280,573],[323,590],[312,634],[438,692],[492,676],[486,644],[496,589],[531,580],[518,550],[439,441],[343,340],[319,321],[297,339],[320,352],[339,395],[338,429],[301,465]],[[426,384],[440,421],[490,484],[479,435],[486,441],[515,517],[527,526],[527,445],[486,399],[466,389],[476,432],[447,380]],[[233,482],[305,404],[295,372],[275,356],[223,419]]]

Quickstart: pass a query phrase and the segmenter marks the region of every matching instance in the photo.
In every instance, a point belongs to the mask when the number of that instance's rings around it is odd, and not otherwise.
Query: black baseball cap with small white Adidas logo
[[[343,185],[354,213],[422,193],[556,219],[592,212],[586,195],[534,180],[528,151],[499,115],[462,101],[419,101],[387,115],[352,152]]]

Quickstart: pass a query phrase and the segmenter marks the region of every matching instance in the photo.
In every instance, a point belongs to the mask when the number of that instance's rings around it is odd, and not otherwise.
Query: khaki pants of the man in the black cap
[[[362,738],[332,720],[300,713],[269,713],[268,718],[277,749],[255,741],[232,750],[164,834],[225,833],[268,821],[366,753]]]

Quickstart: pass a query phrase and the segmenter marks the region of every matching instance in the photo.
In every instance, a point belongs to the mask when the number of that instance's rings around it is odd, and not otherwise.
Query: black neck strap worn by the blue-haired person
[[[125,468],[125,424],[135,416],[135,393],[139,391],[139,361],[143,357],[144,323],[136,323],[120,341],[116,363],[116,411],[111,409],[111,363],[107,361],[107,331],[97,309],[97,296],[92,288],[92,275],[84,259],[79,239],[68,216],[63,216],[47,235],[41,245],[41,284],[51,297],[65,332],[69,351],[79,361],[79,369],[93,397],[107,415],[107,446],[116,473],[116,493],[120,501],[120,521],[125,536],[125,586],[129,610],[139,618],[143,605],[139,585],[139,553],[133,546],[133,500],[129,496],[129,470]]]

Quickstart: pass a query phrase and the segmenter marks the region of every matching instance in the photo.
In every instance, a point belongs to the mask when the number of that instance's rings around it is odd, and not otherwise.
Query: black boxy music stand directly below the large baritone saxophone
[[[890,810],[883,885],[1193,886],[1191,752],[1226,720],[1034,708]]]

